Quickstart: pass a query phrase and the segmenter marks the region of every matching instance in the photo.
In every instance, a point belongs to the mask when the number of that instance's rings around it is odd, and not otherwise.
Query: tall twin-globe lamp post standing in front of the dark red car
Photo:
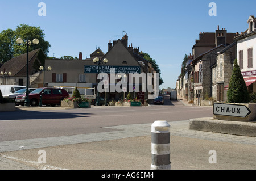
[[[19,44],[19,46],[23,43],[22,38],[18,38],[16,40],[16,42]],[[39,40],[38,39],[34,39],[32,41],[33,44],[39,44]],[[30,40],[26,40],[23,44],[23,46],[27,46],[27,91],[26,91],[26,99],[25,99],[25,106],[30,106],[30,98],[29,98],[29,91],[28,91],[28,81],[29,81],[29,77],[28,77],[28,48],[30,47],[30,45],[32,44]]]

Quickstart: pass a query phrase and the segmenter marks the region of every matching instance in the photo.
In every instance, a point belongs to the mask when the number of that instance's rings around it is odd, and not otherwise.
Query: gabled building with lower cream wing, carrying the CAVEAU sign
[[[108,62],[105,65],[96,65],[93,62],[94,58],[99,58],[100,61],[107,59]],[[46,60],[46,67],[51,66],[52,70],[45,72],[45,83],[49,87],[88,87],[95,88],[97,91],[97,85],[100,81],[97,79],[98,73],[108,74],[109,82],[106,89],[106,98],[108,100],[119,100],[124,98],[123,92],[113,92],[113,88],[120,81],[117,77],[110,76],[110,69],[115,68],[115,74],[125,73],[126,78],[123,81],[127,81],[127,89],[124,92],[133,93],[134,98],[138,95],[138,89],[142,90],[142,82],[138,85],[133,83],[129,77],[129,73],[154,73],[154,69],[149,61],[145,60],[142,53],[139,52],[139,48],[133,48],[131,44],[128,47],[128,36],[124,35],[122,39],[108,43],[108,52],[105,54],[100,48],[90,54],[90,58],[82,59],[82,53],[79,53],[79,60]],[[154,77],[153,77],[154,78]],[[153,79],[154,80],[154,79]],[[154,86],[155,82],[152,81],[151,85]],[[129,89],[129,86],[136,87],[135,89]],[[79,89],[81,93],[82,89]],[[136,92],[135,92],[136,91]],[[92,93],[92,92],[91,92]],[[104,92],[100,95],[104,98]],[[147,98],[147,95],[145,95]]]

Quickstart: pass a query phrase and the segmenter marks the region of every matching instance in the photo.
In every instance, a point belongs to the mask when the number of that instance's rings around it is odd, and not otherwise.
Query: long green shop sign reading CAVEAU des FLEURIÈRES
[[[115,69],[115,72],[110,72],[111,69]],[[139,66],[97,66],[97,65],[85,65],[84,73],[141,73]]]

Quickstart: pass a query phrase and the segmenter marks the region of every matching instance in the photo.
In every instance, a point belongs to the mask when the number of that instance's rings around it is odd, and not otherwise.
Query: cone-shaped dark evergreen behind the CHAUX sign
[[[234,60],[234,68],[230,78],[227,96],[228,103],[248,103],[250,100],[250,95],[240,67],[237,64],[237,59]]]

